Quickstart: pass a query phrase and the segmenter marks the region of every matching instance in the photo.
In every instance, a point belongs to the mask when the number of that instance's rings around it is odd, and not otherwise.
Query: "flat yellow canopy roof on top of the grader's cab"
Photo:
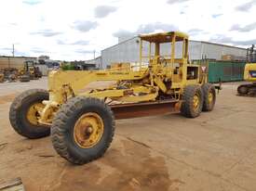
[[[152,34],[141,34],[141,40],[148,41],[151,43],[169,43],[173,35],[176,36],[176,41],[182,41],[188,39],[188,35],[183,32],[158,32]]]

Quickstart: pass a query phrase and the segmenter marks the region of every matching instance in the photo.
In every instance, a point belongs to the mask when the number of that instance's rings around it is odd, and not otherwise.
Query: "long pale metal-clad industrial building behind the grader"
[[[145,47],[148,47],[144,45]],[[153,48],[154,49],[154,48]],[[179,52],[182,46],[176,46],[176,57],[179,57]],[[161,52],[164,54],[170,54],[167,45],[162,47]],[[144,54],[147,53],[147,48],[143,48]],[[230,45],[219,45],[203,41],[189,41],[189,59],[217,59],[221,60],[223,55],[233,55],[246,57],[247,50],[245,48],[230,46]],[[107,68],[107,66],[116,62],[138,62],[140,57],[140,39],[138,36],[132,38],[119,38],[118,44],[108,47],[101,51],[101,69]]]

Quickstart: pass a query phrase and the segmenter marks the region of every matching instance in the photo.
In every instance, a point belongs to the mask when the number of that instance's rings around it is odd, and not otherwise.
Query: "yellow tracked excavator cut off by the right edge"
[[[254,45],[247,51],[244,80],[249,83],[238,86],[238,96],[256,96],[256,49]]]

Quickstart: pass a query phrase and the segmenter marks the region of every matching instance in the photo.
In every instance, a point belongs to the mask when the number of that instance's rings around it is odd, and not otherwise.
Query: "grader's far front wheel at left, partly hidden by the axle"
[[[48,98],[46,90],[32,89],[14,99],[9,109],[9,121],[18,134],[31,139],[50,134],[50,128],[47,125],[37,123],[38,111],[36,110],[36,108],[44,108],[42,101]]]

